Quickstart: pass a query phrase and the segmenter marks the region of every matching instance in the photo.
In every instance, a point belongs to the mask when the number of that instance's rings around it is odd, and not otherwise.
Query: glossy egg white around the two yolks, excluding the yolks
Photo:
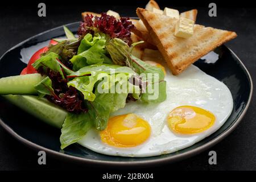
[[[129,102],[112,115],[134,113],[151,126],[151,136],[136,147],[113,147],[100,139],[96,130],[90,130],[78,143],[92,151],[116,156],[147,157],[176,152],[208,137],[225,123],[233,109],[233,98],[228,87],[207,75],[195,65],[174,76],[167,71],[167,99],[160,104]],[[177,106],[190,105],[211,111],[216,121],[210,129],[198,134],[174,134],[167,126],[167,115]]]

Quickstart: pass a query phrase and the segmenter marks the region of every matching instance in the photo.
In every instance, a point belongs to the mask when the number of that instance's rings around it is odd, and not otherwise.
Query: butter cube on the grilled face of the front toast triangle
[[[174,35],[180,38],[189,38],[193,35],[194,21],[188,18],[180,18],[175,26]]]

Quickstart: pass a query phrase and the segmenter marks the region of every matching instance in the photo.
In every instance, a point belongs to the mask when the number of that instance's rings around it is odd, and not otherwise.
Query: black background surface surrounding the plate
[[[42,1],[43,2],[43,1]],[[44,1],[46,2],[46,1]],[[185,3],[158,1],[160,7],[173,7],[180,12],[196,8],[199,10],[197,23],[205,26],[212,26],[226,30],[236,31],[238,37],[226,45],[231,48],[245,64],[251,73],[256,77],[256,8],[250,1],[214,1],[217,4],[217,17],[208,16],[209,2],[191,1]],[[2,2],[1,2],[2,3]],[[92,3],[92,2],[91,2]],[[147,1],[108,1],[101,3],[94,2],[94,5],[86,2],[81,4],[79,1],[71,2],[46,2],[47,16],[39,18],[38,3],[16,4],[5,2],[0,7],[0,55],[9,48],[30,36],[39,34],[50,28],[63,24],[77,22],[80,20],[82,11],[94,11],[101,13],[109,9],[118,11],[122,16],[136,16],[135,9],[144,7]],[[14,65],[15,66],[15,65]],[[256,84],[255,84],[256,85]],[[187,160],[168,164],[157,168],[147,167],[148,172],[163,170],[256,170],[256,123],[255,123],[255,97],[241,124],[227,138],[216,146],[210,148],[217,152],[217,165],[208,164],[208,151],[196,155]],[[22,121],[19,121],[22,122]],[[2,127],[0,127],[0,170],[27,170],[27,169],[98,169],[93,166],[81,166],[47,156],[47,165],[39,166],[38,152],[27,148],[12,138]],[[109,169],[111,171],[115,168]],[[121,170],[120,168],[118,170]],[[138,172],[138,171],[137,171]]]

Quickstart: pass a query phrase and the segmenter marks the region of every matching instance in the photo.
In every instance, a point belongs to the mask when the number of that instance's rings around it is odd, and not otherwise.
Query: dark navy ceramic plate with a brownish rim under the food
[[[73,32],[76,32],[79,23],[71,23],[67,26]],[[59,36],[64,36],[63,27],[53,28],[52,30],[33,36],[11,48],[0,59],[0,77],[19,75],[20,71],[26,67],[26,64],[20,61],[20,50],[22,48],[30,47]],[[220,142],[221,139],[233,131],[241,121],[251,100],[253,84],[241,60],[225,46],[217,48],[215,52],[219,55],[216,61],[201,59],[195,65],[208,75],[217,78],[228,86],[234,102],[232,114],[225,124],[212,135],[191,147],[172,154],[149,158],[123,158],[97,154],[79,144],[73,144],[65,148],[64,151],[60,151],[60,130],[38,121],[39,119],[32,117],[30,114],[3,100],[2,97],[0,98],[0,123],[11,135],[20,140],[20,142],[27,144],[35,150],[44,150],[47,154],[63,159],[70,159],[73,162],[131,166],[162,164],[164,162],[171,163],[176,160],[188,158]],[[209,57],[211,56],[209,55]]]

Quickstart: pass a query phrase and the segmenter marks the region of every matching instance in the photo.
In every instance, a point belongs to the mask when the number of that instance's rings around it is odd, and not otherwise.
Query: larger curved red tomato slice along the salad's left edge
[[[50,40],[49,45],[56,45],[57,43],[58,42],[56,42],[55,40]],[[30,61],[28,61],[28,64],[27,64],[27,74],[37,73],[35,68],[32,67],[31,64],[33,64],[36,60],[38,60],[40,58],[40,55],[46,51],[48,51],[48,46],[39,49],[34,53],[34,55],[32,55],[32,57],[30,58]]]

